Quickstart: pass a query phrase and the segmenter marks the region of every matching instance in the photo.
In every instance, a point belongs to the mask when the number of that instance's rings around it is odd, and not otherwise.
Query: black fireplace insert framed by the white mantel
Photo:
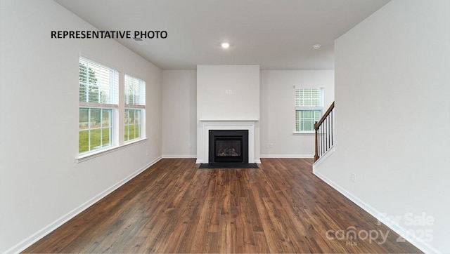
[[[248,130],[210,130],[209,163],[248,163]]]

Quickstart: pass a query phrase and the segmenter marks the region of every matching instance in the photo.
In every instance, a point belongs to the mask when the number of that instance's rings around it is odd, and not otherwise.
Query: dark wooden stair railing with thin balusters
[[[314,152],[314,161],[317,161],[323,154],[325,154],[331,147],[333,147],[333,112],[335,109],[335,102],[333,102],[327,109],[322,118],[314,123],[314,130],[316,133],[316,145]]]

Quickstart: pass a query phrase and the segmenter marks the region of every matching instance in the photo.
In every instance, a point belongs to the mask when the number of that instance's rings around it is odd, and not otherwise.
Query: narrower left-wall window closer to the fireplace
[[[125,75],[124,141],[143,138],[143,114],[146,108],[146,82]]]

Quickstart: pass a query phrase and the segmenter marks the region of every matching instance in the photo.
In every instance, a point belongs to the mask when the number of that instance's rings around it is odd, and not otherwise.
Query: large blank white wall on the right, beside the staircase
[[[335,152],[315,168],[431,253],[450,253],[449,31],[450,1],[394,0],[335,41]]]

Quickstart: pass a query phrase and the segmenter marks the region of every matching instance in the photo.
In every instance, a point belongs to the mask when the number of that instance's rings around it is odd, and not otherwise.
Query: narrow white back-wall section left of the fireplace
[[[195,70],[162,71],[162,156],[197,156]]]

